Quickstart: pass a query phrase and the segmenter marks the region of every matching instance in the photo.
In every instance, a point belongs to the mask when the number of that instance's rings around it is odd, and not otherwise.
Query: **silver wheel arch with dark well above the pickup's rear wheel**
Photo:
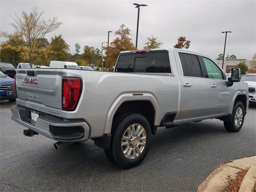
[[[146,110],[146,111],[145,111]],[[148,111],[149,110],[149,111]],[[154,110],[154,118],[152,118]],[[159,105],[156,98],[150,93],[128,93],[120,95],[108,111],[104,134],[111,133],[114,116],[120,112],[137,112],[144,115],[150,122],[152,133],[159,124]]]

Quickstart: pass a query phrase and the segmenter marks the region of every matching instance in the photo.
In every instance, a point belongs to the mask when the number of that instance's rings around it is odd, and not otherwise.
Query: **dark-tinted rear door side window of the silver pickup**
[[[187,53],[179,53],[179,56],[184,76],[202,77],[198,56]]]

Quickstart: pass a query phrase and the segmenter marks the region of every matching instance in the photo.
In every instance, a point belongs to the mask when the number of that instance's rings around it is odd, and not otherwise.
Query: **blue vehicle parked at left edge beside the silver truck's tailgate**
[[[14,79],[0,71],[0,100],[15,101]]]

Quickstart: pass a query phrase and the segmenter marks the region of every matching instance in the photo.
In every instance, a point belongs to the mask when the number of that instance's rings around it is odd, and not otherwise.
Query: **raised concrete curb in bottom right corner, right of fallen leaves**
[[[253,191],[254,185],[256,183],[256,165],[252,166],[241,183],[238,192]]]

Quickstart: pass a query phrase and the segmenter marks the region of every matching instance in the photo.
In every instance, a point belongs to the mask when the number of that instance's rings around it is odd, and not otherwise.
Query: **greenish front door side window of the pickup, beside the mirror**
[[[203,60],[208,73],[208,78],[224,79],[222,71],[220,70],[220,68],[218,68],[218,66],[216,66],[216,64],[212,60],[205,57],[203,57]]]

